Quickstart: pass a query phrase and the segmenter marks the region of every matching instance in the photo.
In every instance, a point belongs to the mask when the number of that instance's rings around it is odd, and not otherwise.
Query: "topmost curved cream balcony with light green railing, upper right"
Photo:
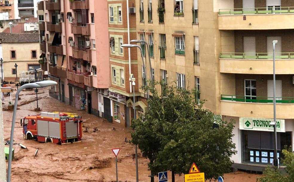
[[[276,30],[294,28],[294,7],[220,9],[220,30]]]

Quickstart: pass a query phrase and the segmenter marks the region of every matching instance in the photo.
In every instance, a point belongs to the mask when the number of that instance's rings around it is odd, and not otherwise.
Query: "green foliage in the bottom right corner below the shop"
[[[264,171],[264,176],[257,178],[257,182],[290,182],[294,179],[294,153],[292,152],[292,147],[285,147],[282,150],[284,158],[281,159],[283,166],[286,166],[285,171],[287,175],[283,175],[282,172],[277,167],[267,166]]]

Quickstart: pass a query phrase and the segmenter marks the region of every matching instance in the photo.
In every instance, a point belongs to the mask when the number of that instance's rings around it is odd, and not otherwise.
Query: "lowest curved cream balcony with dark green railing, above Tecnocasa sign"
[[[248,98],[248,97],[247,97]],[[220,113],[226,116],[273,118],[273,100],[270,97],[247,99],[245,96],[221,95]],[[293,119],[294,98],[276,98],[277,118]]]

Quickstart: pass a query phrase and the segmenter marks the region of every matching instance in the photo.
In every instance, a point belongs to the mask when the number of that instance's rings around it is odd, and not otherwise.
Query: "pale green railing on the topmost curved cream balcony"
[[[294,13],[294,7],[257,7],[220,9],[220,15]]]

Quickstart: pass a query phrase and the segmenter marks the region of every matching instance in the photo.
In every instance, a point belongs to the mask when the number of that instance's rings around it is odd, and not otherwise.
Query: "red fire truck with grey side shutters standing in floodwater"
[[[20,123],[24,139],[68,144],[80,142],[82,138],[82,117],[75,113],[42,112],[26,116]]]

